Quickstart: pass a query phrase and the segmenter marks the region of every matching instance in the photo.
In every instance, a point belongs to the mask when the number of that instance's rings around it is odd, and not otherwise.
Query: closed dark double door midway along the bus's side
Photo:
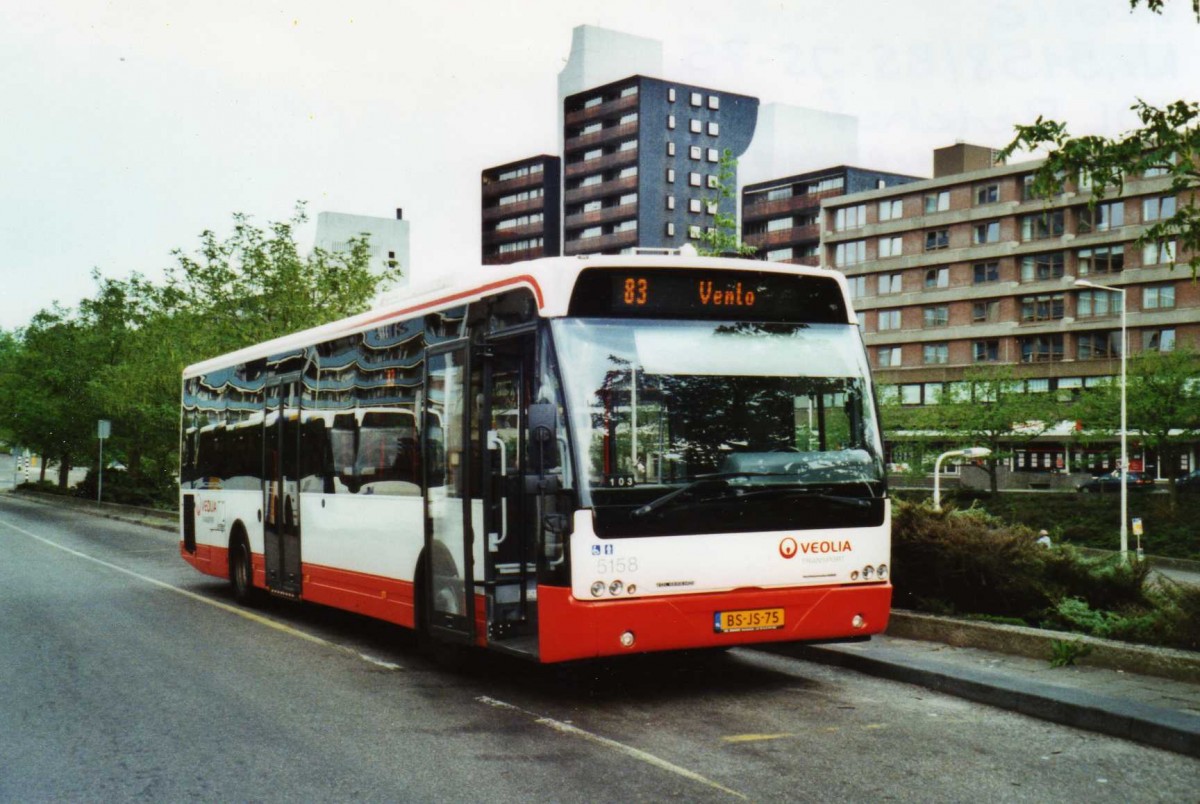
[[[263,418],[263,558],[266,588],[300,596],[300,410],[296,382],[266,386]]]

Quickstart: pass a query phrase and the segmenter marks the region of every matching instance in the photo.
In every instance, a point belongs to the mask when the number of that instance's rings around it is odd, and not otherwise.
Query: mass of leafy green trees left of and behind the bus
[[[104,455],[128,467],[130,494],[170,497],[186,365],[360,312],[400,275],[368,270],[365,238],[301,254],[305,220],[302,206],[265,228],[234,215],[228,236],[208,230],[194,254],[175,251],[164,283],[97,275],[77,310],[0,335],[0,436],[56,461],[65,486],[71,466],[95,463],[96,420],[109,419]]]

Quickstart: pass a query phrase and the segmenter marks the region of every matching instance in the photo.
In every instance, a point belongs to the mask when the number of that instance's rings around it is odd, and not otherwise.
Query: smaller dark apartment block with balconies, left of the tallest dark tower
[[[533,156],[482,173],[485,265],[558,257],[562,160]]]

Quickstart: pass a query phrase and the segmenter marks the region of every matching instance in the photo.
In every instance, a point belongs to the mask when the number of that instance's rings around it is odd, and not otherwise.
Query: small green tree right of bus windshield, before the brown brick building
[[[1000,490],[997,469],[1013,450],[1033,442],[1067,418],[1063,403],[1050,394],[1028,394],[1013,366],[974,368],[961,383],[946,386],[941,398],[920,408],[889,402],[884,410],[890,439],[958,449],[986,446],[983,460],[992,494]]]

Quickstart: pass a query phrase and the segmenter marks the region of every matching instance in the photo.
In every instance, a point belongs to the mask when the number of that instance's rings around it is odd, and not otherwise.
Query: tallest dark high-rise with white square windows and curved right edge
[[[646,76],[564,101],[563,253],[678,248],[718,212],[721,157],[754,136],[757,98]],[[731,179],[736,181],[736,179]]]

